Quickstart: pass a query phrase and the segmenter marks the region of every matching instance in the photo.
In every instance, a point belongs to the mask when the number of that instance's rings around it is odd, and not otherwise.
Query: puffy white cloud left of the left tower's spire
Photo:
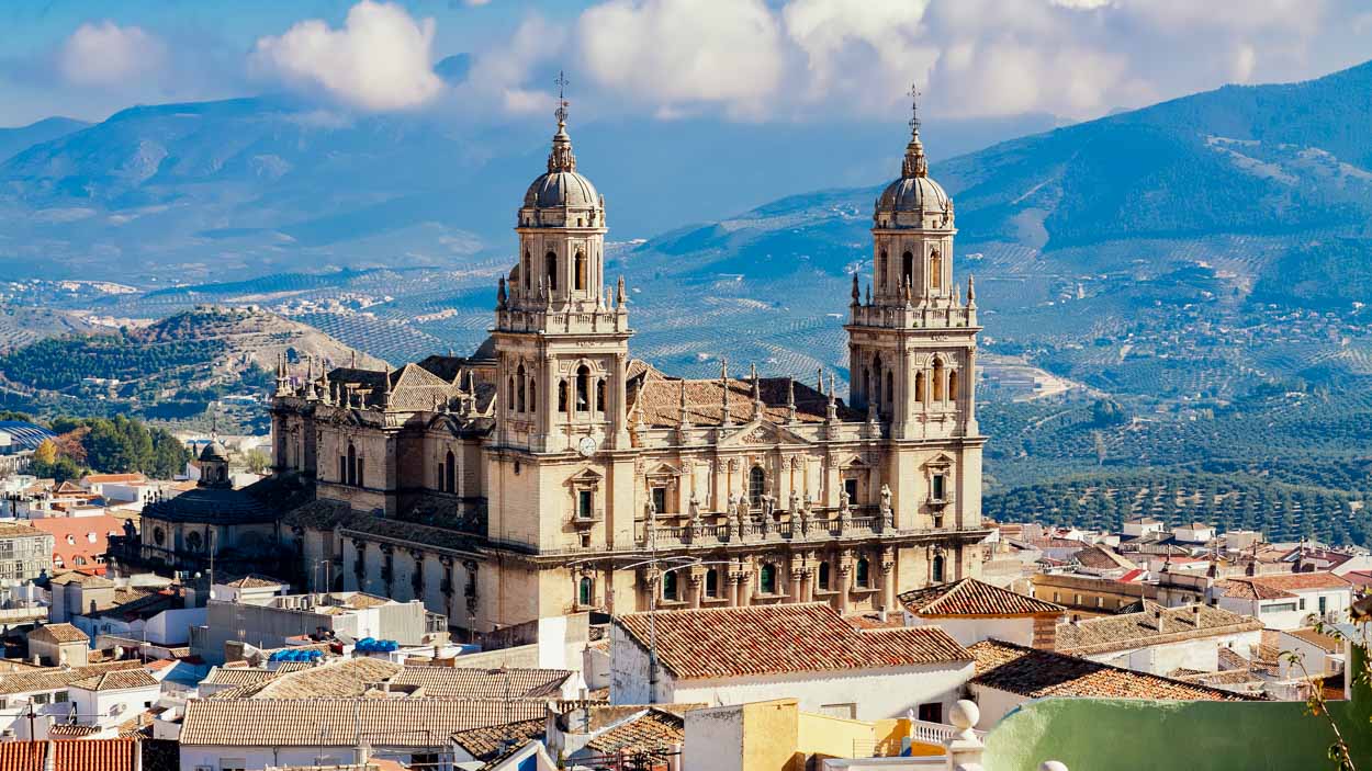
[[[353,5],[343,29],[309,19],[258,40],[251,67],[366,110],[417,107],[443,89],[434,73],[434,19],[373,0]]]

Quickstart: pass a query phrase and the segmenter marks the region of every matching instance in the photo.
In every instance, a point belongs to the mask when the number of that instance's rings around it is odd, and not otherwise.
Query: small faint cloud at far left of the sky
[[[58,51],[58,69],[75,85],[126,85],[159,73],[166,59],[166,45],[152,34],[106,21],[77,27]]]

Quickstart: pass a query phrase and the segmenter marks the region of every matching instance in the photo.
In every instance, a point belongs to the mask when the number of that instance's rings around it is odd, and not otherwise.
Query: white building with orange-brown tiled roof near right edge
[[[1210,601],[1253,616],[1269,630],[1294,630],[1317,621],[1346,621],[1353,584],[1334,573],[1244,576],[1216,583]]]

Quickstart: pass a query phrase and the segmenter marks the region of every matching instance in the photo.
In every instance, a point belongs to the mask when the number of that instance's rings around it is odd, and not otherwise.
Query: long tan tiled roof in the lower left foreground
[[[192,700],[181,746],[434,746],[471,728],[546,716],[535,700]]]

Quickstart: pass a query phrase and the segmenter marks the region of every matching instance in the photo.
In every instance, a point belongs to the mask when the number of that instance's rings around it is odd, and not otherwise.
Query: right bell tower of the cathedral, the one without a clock
[[[900,177],[873,211],[866,294],[853,276],[847,325],[851,401],[866,410],[871,435],[890,446],[885,476],[906,527],[977,527],[984,439],[975,410],[975,288],[969,277],[963,299],[954,283],[954,204],[929,177],[919,92],[910,95]]]

